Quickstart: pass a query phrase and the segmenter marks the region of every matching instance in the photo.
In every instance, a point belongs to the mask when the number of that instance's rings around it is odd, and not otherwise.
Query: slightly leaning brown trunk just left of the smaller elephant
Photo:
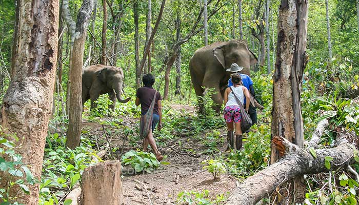
[[[70,109],[69,109],[69,128],[66,135],[66,147],[73,149],[80,145],[82,128],[82,66],[84,57],[85,40],[87,27],[89,25],[93,0],[84,0],[78,11],[76,22],[76,36],[73,49],[76,51],[70,58],[72,59],[72,71],[69,76],[70,86]]]

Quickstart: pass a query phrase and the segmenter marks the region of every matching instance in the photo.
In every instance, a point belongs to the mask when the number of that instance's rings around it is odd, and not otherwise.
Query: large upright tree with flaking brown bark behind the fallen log
[[[271,138],[282,136],[303,147],[303,119],[301,111],[301,84],[307,64],[308,3],[306,0],[283,0],[278,17],[278,38],[275,72],[273,75],[273,110]],[[271,146],[271,164],[280,156]],[[294,179],[290,191],[295,190],[296,203],[305,199],[302,177]],[[289,193],[287,193],[289,194]],[[282,194],[283,195],[283,194]],[[292,202],[291,202],[292,203]]]

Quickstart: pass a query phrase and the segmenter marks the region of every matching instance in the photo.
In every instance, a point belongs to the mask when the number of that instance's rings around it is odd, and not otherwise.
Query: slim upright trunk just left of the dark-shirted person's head
[[[139,43],[138,43],[138,3],[133,3],[133,19],[134,19],[134,43],[135,43],[135,64],[136,64],[136,88],[141,87],[141,69],[139,68]]]

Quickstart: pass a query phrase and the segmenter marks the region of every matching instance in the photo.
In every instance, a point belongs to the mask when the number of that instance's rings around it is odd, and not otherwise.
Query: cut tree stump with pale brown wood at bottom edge
[[[123,203],[119,160],[105,161],[86,168],[82,179],[84,205]]]

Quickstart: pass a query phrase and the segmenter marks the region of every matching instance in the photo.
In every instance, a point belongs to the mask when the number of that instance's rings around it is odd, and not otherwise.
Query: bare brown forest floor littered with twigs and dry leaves
[[[170,105],[170,107],[195,115],[195,108],[193,106]],[[138,119],[132,117],[124,117],[123,120],[126,126],[133,129],[138,123]],[[114,129],[111,126],[105,126],[105,128]],[[105,146],[108,146],[108,141],[110,141],[112,148],[118,148],[119,151],[117,153],[120,160],[119,153],[122,149],[124,150],[123,153],[125,153],[128,150],[135,150],[141,147],[142,142],[138,141],[137,144],[133,145],[133,143],[131,144],[129,140],[125,139],[125,136],[116,135],[115,130],[110,131],[112,134],[109,134],[109,139],[107,140],[103,134],[103,127],[96,122],[84,121],[83,129],[87,131],[90,137],[102,136],[102,138],[95,139],[96,144],[97,141],[99,144],[102,141]],[[225,132],[225,129],[221,130],[221,134]],[[200,136],[205,135],[206,133],[200,134]],[[223,136],[223,138],[225,137]],[[217,147],[221,152],[226,149],[225,141],[223,139],[221,146]],[[220,194],[228,196],[230,194],[229,191],[234,190],[236,187],[236,179],[233,176],[222,174],[214,180],[212,174],[202,169],[203,165],[201,162],[205,159],[214,158],[218,153],[207,154],[205,152],[207,148],[202,144],[201,140],[198,140],[198,137],[193,138],[191,136],[179,135],[172,140],[166,141],[165,145],[161,144],[159,143],[158,148],[163,155],[167,156],[163,161],[169,162],[169,165],[161,165],[161,167],[150,174],[141,173],[135,175],[131,167],[123,166],[124,204],[178,204],[176,203],[177,195],[183,191],[202,192],[208,190],[208,198],[215,199]],[[192,151],[189,152],[189,149]],[[113,155],[116,158],[116,154]],[[144,189],[144,187],[147,189]]]

